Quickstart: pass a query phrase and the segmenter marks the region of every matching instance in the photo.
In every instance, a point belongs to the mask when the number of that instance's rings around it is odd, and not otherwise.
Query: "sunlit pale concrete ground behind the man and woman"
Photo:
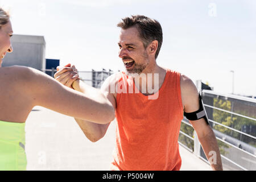
[[[90,142],[75,119],[36,106],[26,122],[27,170],[109,170],[115,122],[104,138]],[[180,146],[181,170],[210,170],[210,166]]]

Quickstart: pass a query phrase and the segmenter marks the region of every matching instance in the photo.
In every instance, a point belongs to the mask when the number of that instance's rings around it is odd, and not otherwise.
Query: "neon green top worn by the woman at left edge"
[[[0,121],[0,170],[26,170],[25,123]]]

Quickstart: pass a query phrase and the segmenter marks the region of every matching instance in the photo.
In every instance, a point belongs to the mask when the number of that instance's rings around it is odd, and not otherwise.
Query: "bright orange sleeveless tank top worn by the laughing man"
[[[167,69],[158,98],[148,100],[125,75],[119,82],[133,93],[117,93],[115,148],[111,170],[179,170],[179,130],[183,119],[180,73]],[[137,91],[137,92],[136,92]]]

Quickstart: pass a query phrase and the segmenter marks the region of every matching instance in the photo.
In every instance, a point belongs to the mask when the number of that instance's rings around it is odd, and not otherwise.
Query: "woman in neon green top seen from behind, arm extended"
[[[24,125],[34,106],[101,124],[114,119],[114,109],[99,90],[91,98],[33,68],[1,68],[3,57],[13,51],[12,35],[9,14],[0,7],[0,170],[26,170]],[[76,79],[73,75],[71,81]]]

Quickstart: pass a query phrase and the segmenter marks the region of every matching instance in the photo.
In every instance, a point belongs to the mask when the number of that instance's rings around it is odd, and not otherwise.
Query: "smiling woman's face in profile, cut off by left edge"
[[[2,59],[7,52],[13,52],[11,47],[11,36],[13,36],[13,29],[11,28],[11,22],[1,26],[0,28],[0,68],[2,66]]]

